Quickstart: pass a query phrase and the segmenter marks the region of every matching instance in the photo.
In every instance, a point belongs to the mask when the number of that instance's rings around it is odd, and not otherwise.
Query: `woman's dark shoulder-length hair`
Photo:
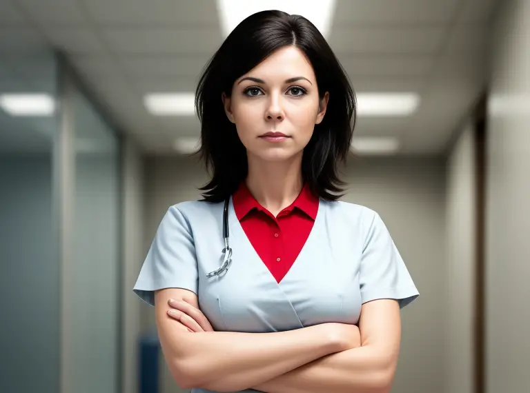
[[[311,192],[335,201],[344,192],[337,164],[348,157],[355,126],[355,93],[339,61],[313,23],[300,15],[271,10],[244,19],[210,59],[199,79],[195,108],[202,123],[198,153],[211,180],[200,190],[206,201],[223,201],[246,179],[246,149],[226,117],[222,93],[279,48],[295,46],[313,66],[320,99],[329,92],[326,115],[304,149],[302,177]]]

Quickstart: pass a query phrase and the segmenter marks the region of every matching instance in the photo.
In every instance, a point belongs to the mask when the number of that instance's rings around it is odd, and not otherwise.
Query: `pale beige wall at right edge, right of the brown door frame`
[[[529,391],[530,0],[500,5],[487,130],[487,391]]]

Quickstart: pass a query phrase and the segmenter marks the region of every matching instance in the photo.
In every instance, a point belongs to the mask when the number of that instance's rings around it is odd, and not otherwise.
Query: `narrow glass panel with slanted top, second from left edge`
[[[75,133],[70,379],[77,393],[117,392],[119,150],[90,102],[72,94]]]

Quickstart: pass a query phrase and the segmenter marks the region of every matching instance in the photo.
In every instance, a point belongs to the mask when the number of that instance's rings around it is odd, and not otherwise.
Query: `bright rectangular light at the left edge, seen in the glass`
[[[55,100],[49,94],[1,94],[0,107],[12,116],[52,116]]]

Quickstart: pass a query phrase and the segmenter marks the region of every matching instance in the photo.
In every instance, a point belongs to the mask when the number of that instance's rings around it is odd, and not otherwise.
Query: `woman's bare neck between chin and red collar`
[[[246,186],[259,204],[276,216],[302,191],[302,154],[280,162],[248,157]]]

